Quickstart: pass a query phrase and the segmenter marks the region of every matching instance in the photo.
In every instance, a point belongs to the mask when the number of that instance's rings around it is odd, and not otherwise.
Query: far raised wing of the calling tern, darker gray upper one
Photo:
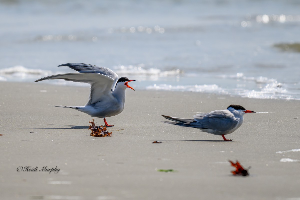
[[[99,73],[111,77],[114,80],[111,88],[112,92],[115,89],[116,83],[119,79],[118,75],[115,72],[113,72],[112,70],[106,67],[99,67],[96,65],[90,65],[85,63],[66,63],[66,64],[58,65],[58,67],[62,67],[62,66],[70,67],[71,69],[74,69],[79,73]]]

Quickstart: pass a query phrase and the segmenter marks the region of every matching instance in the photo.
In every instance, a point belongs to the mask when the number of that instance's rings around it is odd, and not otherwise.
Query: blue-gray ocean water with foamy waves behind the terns
[[[298,0],[1,0],[0,27],[0,84],[81,62],[135,89],[300,99]]]

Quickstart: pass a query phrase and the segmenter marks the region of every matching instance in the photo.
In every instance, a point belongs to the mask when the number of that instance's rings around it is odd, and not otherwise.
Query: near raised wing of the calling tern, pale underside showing
[[[63,79],[74,82],[89,83],[91,85],[91,93],[86,105],[94,104],[102,101],[111,95],[111,88],[114,83],[113,78],[99,73],[73,73],[73,74],[57,74],[41,78],[35,82],[47,79]]]

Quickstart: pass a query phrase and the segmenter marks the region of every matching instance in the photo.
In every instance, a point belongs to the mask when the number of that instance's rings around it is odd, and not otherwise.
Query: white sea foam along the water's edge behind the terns
[[[295,96],[297,94],[291,94],[287,91],[284,84],[278,83],[276,79],[267,77],[247,77],[244,73],[236,73],[233,75],[222,75],[218,78],[222,79],[237,79],[246,81],[243,84],[236,84],[230,88],[230,86],[225,85],[223,87],[224,81],[216,80],[215,84],[199,84],[199,85],[174,85],[174,84],[154,84],[148,85],[147,82],[162,82],[161,80],[166,80],[171,83],[190,83],[197,81],[196,77],[201,77],[201,75],[196,73],[184,73],[183,70],[173,69],[173,70],[161,70],[158,68],[146,68],[144,64],[138,65],[118,65],[114,66],[113,71],[115,71],[119,77],[127,76],[132,79],[140,81],[138,86],[140,88],[146,88],[149,90],[169,90],[169,91],[190,91],[190,92],[205,92],[205,93],[217,93],[226,95],[236,95],[245,98],[273,98],[273,99],[297,99]],[[64,71],[49,71],[42,69],[30,69],[24,66],[14,66],[10,68],[4,68],[0,70],[0,81],[34,81],[41,77],[46,77],[53,74],[67,73]],[[75,72],[76,73],[76,72]],[[175,79],[174,79],[175,77]],[[210,79],[209,79],[210,80]],[[73,86],[85,86],[85,83],[74,83],[64,80],[51,80],[48,81],[51,84],[57,85],[73,85]],[[252,84],[251,84],[252,82]],[[253,87],[253,82],[256,84],[254,89],[249,89]],[[220,85],[219,85],[220,84]],[[226,84],[226,80],[225,80]]]

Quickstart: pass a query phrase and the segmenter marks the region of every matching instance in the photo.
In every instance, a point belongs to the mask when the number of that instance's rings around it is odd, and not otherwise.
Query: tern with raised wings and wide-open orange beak
[[[89,65],[83,63],[67,63],[58,65],[58,67],[67,66],[79,73],[72,74],[56,74],[36,80],[35,82],[48,79],[63,79],[74,82],[89,83],[91,92],[88,103],[84,106],[56,106],[62,108],[73,108],[83,113],[89,114],[91,117],[104,118],[105,126],[108,125],[106,117],[120,114],[125,104],[125,89],[130,88],[130,81],[127,77],[118,79],[118,75],[105,67]],[[135,91],[135,89],[133,89]]]

